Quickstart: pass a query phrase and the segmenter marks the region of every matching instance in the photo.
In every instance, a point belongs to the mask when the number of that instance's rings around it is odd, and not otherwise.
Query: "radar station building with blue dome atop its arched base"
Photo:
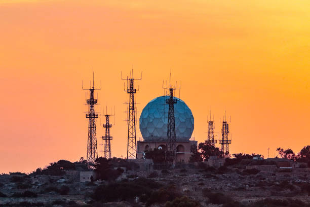
[[[142,110],[139,127],[143,141],[137,142],[137,158],[143,157],[143,152],[154,148],[166,150],[167,122],[169,105],[166,99],[169,96],[160,96],[149,101]],[[189,140],[194,128],[194,118],[186,103],[175,97],[174,105],[177,162],[187,163],[192,155],[191,149],[197,148],[197,141]]]

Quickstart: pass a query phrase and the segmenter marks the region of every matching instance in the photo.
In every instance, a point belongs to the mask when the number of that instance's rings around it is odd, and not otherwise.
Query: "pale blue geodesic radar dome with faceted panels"
[[[167,123],[169,105],[166,99],[169,96],[160,96],[147,103],[140,115],[140,131],[144,141],[163,141],[167,139]],[[174,105],[176,140],[190,139],[194,119],[186,103],[179,99]]]

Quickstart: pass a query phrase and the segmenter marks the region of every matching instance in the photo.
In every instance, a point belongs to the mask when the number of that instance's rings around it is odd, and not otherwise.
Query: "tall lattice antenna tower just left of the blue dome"
[[[128,142],[127,142],[127,161],[130,159],[137,159],[137,146],[136,146],[136,108],[135,108],[135,99],[134,94],[136,93],[135,89],[135,80],[142,79],[142,72],[141,78],[135,79],[133,75],[130,73],[129,78],[123,79],[122,72],[121,72],[122,80],[127,80],[127,90],[125,90],[125,83],[124,83],[124,91],[129,93],[129,102],[128,102]],[[139,89],[138,89],[139,90]]]

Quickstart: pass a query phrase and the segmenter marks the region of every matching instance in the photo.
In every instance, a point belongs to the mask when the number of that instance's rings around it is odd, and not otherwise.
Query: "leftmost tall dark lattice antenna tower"
[[[100,88],[96,89],[94,86],[94,72],[93,72],[93,86],[90,86],[89,89],[84,89],[82,81],[82,89],[89,90],[90,95],[89,99],[86,98],[87,105],[89,105],[89,110],[86,113],[86,118],[88,118],[88,140],[87,140],[86,160],[88,164],[93,164],[95,160],[98,158],[97,132],[96,132],[96,118],[98,118],[98,114],[95,112],[95,105],[97,105],[97,99],[94,98],[94,90],[101,90],[101,81],[100,81]]]

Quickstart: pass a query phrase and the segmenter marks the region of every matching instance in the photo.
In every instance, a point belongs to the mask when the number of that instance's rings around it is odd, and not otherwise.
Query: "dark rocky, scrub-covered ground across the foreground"
[[[196,167],[125,171],[116,181],[85,183],[11,174],[0,176],[0,206],[182,206],[167,204],[182,196],[195,201],[184,206],[310,206],[309,172]]]

